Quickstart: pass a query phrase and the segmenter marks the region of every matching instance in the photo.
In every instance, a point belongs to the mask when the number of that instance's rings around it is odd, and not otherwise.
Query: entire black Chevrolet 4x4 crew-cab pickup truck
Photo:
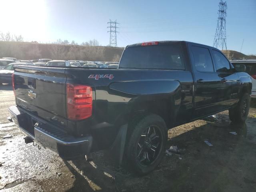
[[[252,83],[216,48],[159,41],[126,46],[118,69],[16,66],[13,88],[8,119],[26,143],[67,160],[111,148],[146,174],[164,156],[168,129],[224,110],[244,122]]]

